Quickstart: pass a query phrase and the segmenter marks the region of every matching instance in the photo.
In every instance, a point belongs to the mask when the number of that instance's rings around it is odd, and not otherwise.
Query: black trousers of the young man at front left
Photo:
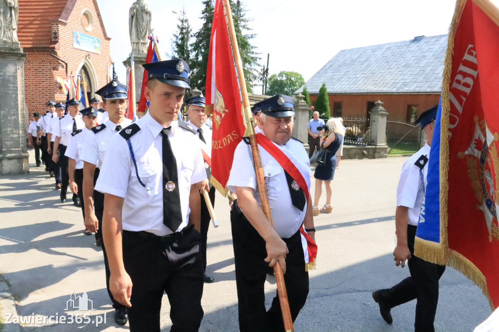
[[[160,331],[164,292],[171,307],[170,331],[199,330],[204,315],[200,246],[201,234],[193,228],[170,243],[151,233],[123,231],[123,263],[133,283],[127,308],[131,332]]]

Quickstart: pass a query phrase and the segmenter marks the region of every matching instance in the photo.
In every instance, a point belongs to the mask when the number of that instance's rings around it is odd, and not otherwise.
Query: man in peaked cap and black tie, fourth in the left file
[[[71,134],[76,132],[78,129],[83,129],[85,124],[81,120],[80,116],[80,102],[74,98],[66,103],[67,110],[69,114],[63,116],[59,120],[59,126],[54,126],[52,129],[52,135],[55,136],[54,148],[52,151],[52,161],[54,163],[59,162],[61,167],[61,202],[66,201],[66,191],[69,184],[69,173],[67,170],[68,159],[64,156],[66,152],[67,145],[71,139]],[[59,155],[59,156],[58,156]],[[77,195],[73,194],[73,204],[76,205]]]

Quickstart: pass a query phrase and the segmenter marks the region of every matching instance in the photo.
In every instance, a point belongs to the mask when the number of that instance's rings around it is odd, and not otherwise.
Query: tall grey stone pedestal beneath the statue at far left
[[[19,42],[0,41],[0,175],[29,172],[24,65]]]

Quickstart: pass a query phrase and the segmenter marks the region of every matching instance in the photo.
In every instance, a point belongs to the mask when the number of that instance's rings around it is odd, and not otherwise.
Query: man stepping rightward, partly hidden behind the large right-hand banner
[[[416,121],[421,124],[428,140],[421,150],[404,163],[397,186],[395,210],[397,246],[393,256],[396,266],[404,267],[406,260],[409,260],[411,276],[390,289],[381,289],[372,293],[374,301],[379,305],[381,317],[388,324],[393,322],[390,313],[392,308],[417,299],[414,323],[416,332],[435,331],[433,322],[438,304],[438,285],[445,271],[445,265],[433,264],[414,256],[414,239],[425,197],[428,158],[437,109],[438,106],[435,106],[421,113]]]

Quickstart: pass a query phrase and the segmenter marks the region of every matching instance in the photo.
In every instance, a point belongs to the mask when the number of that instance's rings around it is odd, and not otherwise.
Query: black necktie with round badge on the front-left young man
[[[168,133],[171,127],[164,128],[163,134],[163,223],[175,232],[182,223],[180,193],[177,175],[177,161],[173,155]]]

